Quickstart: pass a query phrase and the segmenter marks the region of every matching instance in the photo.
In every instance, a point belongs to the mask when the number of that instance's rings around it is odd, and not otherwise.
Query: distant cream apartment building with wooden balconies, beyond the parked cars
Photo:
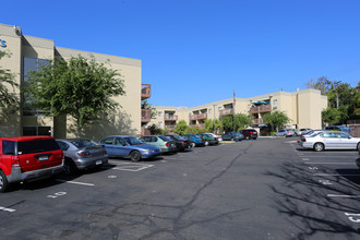
[[[321,111],[327,108],[327,97],[316,89],[297,89],[293,93],[276,92],[251,98],[228,98],[192,108],[156,106],[157,116],[149,124],[173,130],[179,120],[185,120],[190,127],[204,128],[206,119],[219,119],[223,116],[244,113],[251,116],[252,127],[264,127],[263,116],[275,110],[290,118],[288,128],[321,129]]]

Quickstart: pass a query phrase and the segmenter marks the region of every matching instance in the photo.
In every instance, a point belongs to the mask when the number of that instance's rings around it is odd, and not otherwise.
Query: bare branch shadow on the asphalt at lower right
[[[289,239],[309,239],[316,233],[341,233],[351,237],[360,233],[360,228],[351,225],[347,217],[336,217],[344,213],[359,214],[358,200],[344,200],[329,197],[327,194],[336,195],[359,195],[360,177],[357,169],[325,169],[322,172],[333,173],[316,178],[314,170],[304,166],[303,163],[287,161],[280,165],[276,172],[266,171],[264,175],[280,179],[283,184],[267,184],[273,195],[271,201],[274,207],[292,224],[298,232],[289,235]],[[340,176],[337,176],[340,175]],[[334,184],[324,184],[333,182]],[[351,203],[351,205],[349,204]],[[313,212],[311,209],[321,209]],[[324,213],[327,217],[324,217]],[[335,236],[334,236],[335,237]],[[344,237],[344,236],[343,236]],[[351,238],[352,239],[352,238]]]

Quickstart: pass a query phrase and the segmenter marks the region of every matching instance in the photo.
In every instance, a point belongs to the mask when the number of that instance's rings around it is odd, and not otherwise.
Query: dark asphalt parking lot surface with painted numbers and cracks
[[[356,151],[296,137],[223,143],[26,183],[0,195],[3,239],[358,239]]]

